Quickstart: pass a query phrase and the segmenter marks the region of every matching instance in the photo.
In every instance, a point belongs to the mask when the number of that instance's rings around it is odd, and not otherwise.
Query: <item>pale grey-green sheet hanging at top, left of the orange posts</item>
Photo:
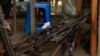
[[[62,16],[65,20],[70,20],[76,16],[75,0],[62,0]]]

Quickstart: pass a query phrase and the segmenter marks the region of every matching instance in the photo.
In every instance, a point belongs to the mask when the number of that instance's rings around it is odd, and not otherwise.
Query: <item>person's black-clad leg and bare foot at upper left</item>
[[[1,5],[1,8],[4,14],[3,27],[11,31],[11,28],[9,25],[10,23],[7,21],[7,19],[9,18],[10,11],[11,11],[11,0],[8,0],[6,4]]]

